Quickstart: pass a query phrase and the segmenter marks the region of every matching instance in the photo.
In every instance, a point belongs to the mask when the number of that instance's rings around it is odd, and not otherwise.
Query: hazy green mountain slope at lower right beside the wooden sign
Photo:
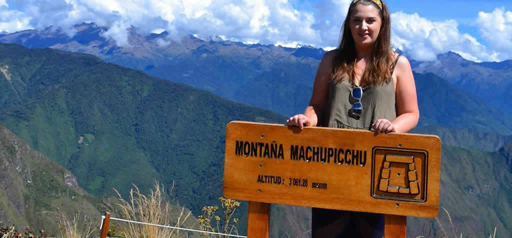
[[[440,223],[453,222],[463,237],[484,237],[497,227],[498,237],[508,237],[512,230],[512,175],[507,158],[499,152],[480,152],[443,145],[441,159]],[[450,219],[449,219],[450,217]],[[435,220],[410,218],[408,234],[426,235]],[[434,229],[432,235],[443,233]],[[452,235],[450,235],[451,237]]]

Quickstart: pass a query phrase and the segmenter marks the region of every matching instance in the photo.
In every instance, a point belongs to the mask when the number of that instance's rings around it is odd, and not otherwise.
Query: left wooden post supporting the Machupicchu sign
[[[247,238],[268,238],[270,204],[249,202]]]

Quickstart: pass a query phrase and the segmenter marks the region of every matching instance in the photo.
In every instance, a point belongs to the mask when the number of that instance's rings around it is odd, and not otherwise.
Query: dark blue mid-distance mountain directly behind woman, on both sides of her
[[[191,51],[147,73],[286,116],[304,112],[311,98],[318,60],[277,55],[278,50],[264,46],[204,44],[207,47]],[[261,52],[261,56],[254,55],[255,49],[273,57]],[[415,73],[414,78],[421,113],[418,126],[438,125],[512,134],[510,114],[489,106],[486,101],[432,73]]]

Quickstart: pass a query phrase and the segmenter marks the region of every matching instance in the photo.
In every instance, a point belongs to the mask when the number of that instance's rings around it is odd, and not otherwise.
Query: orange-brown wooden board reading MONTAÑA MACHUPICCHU
[[[440,160],[437,136],[233,121],[224,196],[434,218]]]

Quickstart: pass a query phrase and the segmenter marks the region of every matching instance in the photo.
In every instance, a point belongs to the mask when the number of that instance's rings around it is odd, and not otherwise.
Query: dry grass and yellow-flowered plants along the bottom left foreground
[[[200,232],[192,232],[186,230],[183,231],[180,229],[161,226],[173,226],[189,229],[191,228],[196,230],[199,229],[198,231],[214,231],[211,226],[209,226],[209,222],[208,224],[205,223],[206,219],[202,218],[202,216],[199,216],[199,220],[196,220],[188,209],[172,205],[170,203],[172,188],[170,191],[166,192],[163,185],[157,181],[155,181],[154,188],[150,189],[148,194],[142,194],[135,185],[130,190],[130,197],[127,200],[123,199],[119,192],[117,194],[117,199],[110,198],[111,200],[114,199],[114,205],[104,203],[102,206],[103,208],[106,208],[106,210],[113,212],[113,217],[110,220],[107,236],[124,238],[199,238],[201,236]],[[236,233],[237,228],[234,226],[234,224],[237,223],[238,219],[233,218],[232,216],[234,210],[240,206],[240,203],[222,197],[220,198],[220,202],[224,208],[224,224],[227,224],[230,227],[230,231],[224,229],[224,232]],[[216,211],[218,210],[217,206],[207,206],[203,208],[203,211],[206,211],[207,209],[211,210],[211,208],[215,208]],[[60,211],[58,208],[56,209],[58,211],[49,211],[45,212],[45,214],[48,215],[49,218],[53,219],[54,223],[56,223],[58,230],[57,237],[97,237],[98,233],[100,232],[101,225],[99,219],[95,219],[94,217],[91,219],[87,215],[81,215],[80,211],[78,211],[78,213],[76,213],[71,218],[69,215]],[[124,221],[118,222],[114,220],[114,217],[154,225],[127,223]],[[216,216],[215,218],[217,221],[217,226],[220,227],[220,217]],[[218,231],[219,230],[216,230],[216,232]],[[41,238],[47,236],[47,231],[45,229],[41,229],[39,232],[41,233]],[[0,237],[2,238],[34,238],[34,233],[35,232],[32,231],[32,229],[29,227],[25,228],[25,232],[18,232],[14,226],[7,228],[0,227]],[[55,235],[50,233],[50,236]],[[203,235],[202,237],[220,238],[221,236]]]

